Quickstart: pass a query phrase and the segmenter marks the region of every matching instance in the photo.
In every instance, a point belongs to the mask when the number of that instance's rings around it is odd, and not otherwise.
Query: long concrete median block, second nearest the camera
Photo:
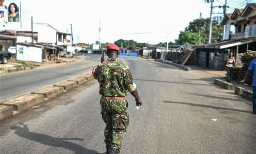
[[[0,105],[12,106],[14,111],[24,111],[32,106],[36,106],[44,101],[44,96],[41,94],[26,94],[9,101],[0,103]]]

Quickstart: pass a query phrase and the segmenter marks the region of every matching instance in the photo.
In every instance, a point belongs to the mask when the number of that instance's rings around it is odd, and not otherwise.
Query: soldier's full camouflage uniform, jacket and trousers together
[[[129,115],[128,102],[116,97],[125,97],[128,91],[132,92],[136,89],[136,85],[129,67],[115,58],[99,64],[94,75],[100,85],[99,94],[103,96],[100,99],[100,106],[102,119],[106,123],[104,142],[120,152],[129,124]]]

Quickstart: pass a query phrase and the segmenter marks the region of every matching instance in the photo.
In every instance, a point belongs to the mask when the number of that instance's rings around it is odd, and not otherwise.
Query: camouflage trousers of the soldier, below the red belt
[[[128,102],[114,98],[101,98],[100,106],[102,119],[106,123],[104,142],[120,152],[126,128],[129,125]]]

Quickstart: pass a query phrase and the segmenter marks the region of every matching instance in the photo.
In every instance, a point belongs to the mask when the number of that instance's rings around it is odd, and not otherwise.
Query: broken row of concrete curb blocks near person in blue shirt
[[[227,90],[233,90],[233,84],[228,83],[226,81],[220,80],[220,79],[215,79],[214,84],[223,87],[224,89]],[[242,96],[246,98],[247,100],[252,101],[252,91],[251,90],[245,90],[243,87],[235,87],[235,94]]]

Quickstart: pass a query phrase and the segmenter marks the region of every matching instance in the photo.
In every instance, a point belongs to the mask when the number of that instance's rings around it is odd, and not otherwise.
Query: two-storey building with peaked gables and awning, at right
[[[256,48],[256,3],[247,4],[244,9],[235,9],[226,13],[221,25],[226,26],[223,41],[197,46],[195,49],[195,64],[197,66],[216,70],[224,69],[224,59],[229,52],[234,53],[237,64],[240,65],[240,53]],[[230,34],[230,27],[235,30]]]

